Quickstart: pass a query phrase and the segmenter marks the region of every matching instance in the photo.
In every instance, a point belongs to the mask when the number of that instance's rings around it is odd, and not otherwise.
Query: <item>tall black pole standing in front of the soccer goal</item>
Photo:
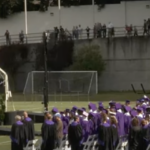
[[[43,35],[43,40],[44,40],[44,69],[45,69],[43,94],[44,94],[44,108],[45,111],[48,111],[48,72],[47,72],[47,34],[46,33],[44,33]]]

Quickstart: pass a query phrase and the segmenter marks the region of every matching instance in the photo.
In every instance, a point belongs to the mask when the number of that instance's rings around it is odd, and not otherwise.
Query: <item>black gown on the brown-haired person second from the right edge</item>
[[[140,126],[129,129],[129,150],[144,150],[142,146],[142,128]]]

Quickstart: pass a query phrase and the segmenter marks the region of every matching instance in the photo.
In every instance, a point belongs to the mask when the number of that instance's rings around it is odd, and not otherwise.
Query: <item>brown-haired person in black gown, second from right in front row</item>
[[[144,150],[142,148],[142,128],[139,124],[139,119],[137,117],[133,118],[131,121],[131,127],[129,129],[129,150]]]

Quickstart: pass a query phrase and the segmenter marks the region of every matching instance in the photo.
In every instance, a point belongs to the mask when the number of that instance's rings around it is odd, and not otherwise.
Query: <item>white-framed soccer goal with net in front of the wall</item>
[[[28,73],[23,94],[27,99],[41,100],[44,87],[44,71]],[[51,100],[68,100],[98,93],[97,71],[50,71],[48,93]]]

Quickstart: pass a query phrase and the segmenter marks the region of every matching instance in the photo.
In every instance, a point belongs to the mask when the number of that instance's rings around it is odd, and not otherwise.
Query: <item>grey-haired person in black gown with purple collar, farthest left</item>
[[[25,125],[21,122],[21,117],[15,117],[16,122],[11,127],[11,150],[23,150],[26,146],[28,133]]]

